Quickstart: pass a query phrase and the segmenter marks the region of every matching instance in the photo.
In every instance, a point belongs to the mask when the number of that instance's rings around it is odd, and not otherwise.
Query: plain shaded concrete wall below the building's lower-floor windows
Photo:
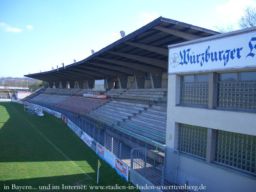
[[[254,192],[256,180],[214,164],[179,155],[179,179],[190,186],[206,186],[202,192]]]

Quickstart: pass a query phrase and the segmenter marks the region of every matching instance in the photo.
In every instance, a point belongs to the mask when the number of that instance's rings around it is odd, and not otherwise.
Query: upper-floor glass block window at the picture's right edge
[[[217,107],[256,111],[256,71],[219,74]]]

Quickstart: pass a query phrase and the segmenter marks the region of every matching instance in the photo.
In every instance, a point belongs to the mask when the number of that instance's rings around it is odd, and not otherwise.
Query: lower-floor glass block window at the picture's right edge
[[[256,136],[216,130],[215,162],[256,174]]]

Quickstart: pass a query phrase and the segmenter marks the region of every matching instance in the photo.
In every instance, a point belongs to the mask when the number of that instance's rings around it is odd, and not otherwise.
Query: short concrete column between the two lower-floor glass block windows
[[[215,135],[216,130],[208,128],[207,130],[207,144],[206,144],[206,162],[214,162],[215,156]]]

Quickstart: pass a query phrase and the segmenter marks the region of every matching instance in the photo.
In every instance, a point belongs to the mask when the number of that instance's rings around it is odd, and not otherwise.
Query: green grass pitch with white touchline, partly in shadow
[[[99,184],[96,184],[98,159],[102,166]],[[13,184],[15,187],[31,186],[32,189],[12,189]],[[50,190],[40,187],[49,187],[49,184]],[[116,184],[133,186],[100,159],[61,119],[47,113],[42,118],[28,115],[21,104],[0,102],[1,192],[69,191],[62,189],[62,185],[86,185],[88,191],[113,191],[89,187]],[[52,189],[52,186],[60,189]],[[72,192],[83,190],[70,189]]]

